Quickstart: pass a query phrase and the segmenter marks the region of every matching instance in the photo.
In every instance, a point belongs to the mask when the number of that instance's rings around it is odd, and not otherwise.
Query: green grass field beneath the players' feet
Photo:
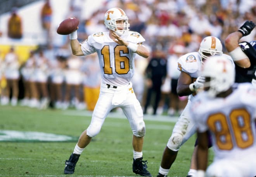
[[[0,141],[0,177],[138,177],[132,172],[130,125],[120,113],[109,114],[101,132],[80,156],[75,173],[64,175],[65,160],[73,152],[81,132],[90,124],[90,115],[90,112],[77,110],[0,106],[0,131],[33,131],[75,137],[66,142]],[[167,116],[145,115],[147,132],[143,156],[154,177],[175,120]],[[182,146],[168,177],[187,175],[194,141],[195,136]]]

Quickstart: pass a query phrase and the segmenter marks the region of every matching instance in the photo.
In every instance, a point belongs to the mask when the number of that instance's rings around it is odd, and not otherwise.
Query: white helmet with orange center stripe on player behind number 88
[[[212,55],[221,55],[223,53],[221,41],[214,36],[207,36],[201,41],[198,52],[201,62],[203,58],[208,59]]]

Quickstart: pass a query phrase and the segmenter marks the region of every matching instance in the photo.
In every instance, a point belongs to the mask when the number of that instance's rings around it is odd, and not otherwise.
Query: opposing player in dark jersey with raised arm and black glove
[[[235,82],[252,82],[256,86],[256,41],[239,42],[253,31],[254,22],[246,21],[225,39],[225,47],[235,62]]]

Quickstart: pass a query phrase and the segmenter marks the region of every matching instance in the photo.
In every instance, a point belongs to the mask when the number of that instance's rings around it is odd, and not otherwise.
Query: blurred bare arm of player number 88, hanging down
[[[207,132],[197,132],[198,148],[196,153],[197,170],[205,172],[208,162],[208,135]]]

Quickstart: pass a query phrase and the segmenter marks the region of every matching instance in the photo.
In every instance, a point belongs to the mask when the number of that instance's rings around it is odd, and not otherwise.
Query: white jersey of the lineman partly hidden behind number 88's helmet
[[[232,64],[235,67],[234,61],[229,55],[222,54],[224,57],[230,60]],[[201,57],[199,55],[199,52],[190,52],[185,55],[182,55],[178,59],[178,70],[183,71],[187,74],[189,74],[190,77],[196,79],[200,76],[202,67]],[[191,96],[189,96],[189,99],[191,99]]]

